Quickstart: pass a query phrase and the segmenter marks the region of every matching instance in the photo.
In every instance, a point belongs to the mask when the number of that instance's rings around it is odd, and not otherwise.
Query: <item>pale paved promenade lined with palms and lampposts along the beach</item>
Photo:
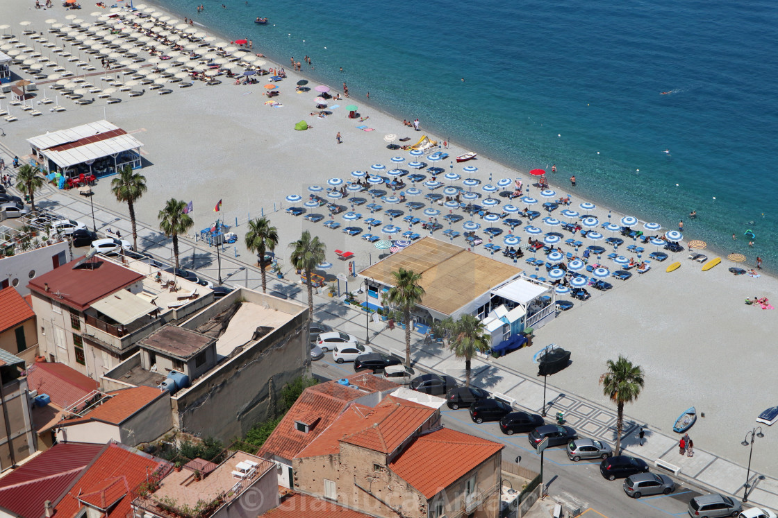
[[[0,156],[10,164],[13,155],[0,145]],[[9,167],[8,171],[12,171]],[[15,190],[15,189],[11,189]],[[79,197],[77,193],[53,189],[46,186],[36,196],[36,205],[78,221],[91,222],[92,208],[88,199]],[[109,208],[94,205],[94,217],[97,231],[107,227],[121,229],[122,235],[131,236],[131,224],[121,213]],[[172,243],[165,238],[156,226],[138,221],[138,249],[152,254],[164,261],[172,260]],[[91,226],[91,225],[89,225]],[[240,232],[240,229],[236,229]],[[216,283],[218,266],[216,249],[184,237],[179,238],[180,266],[196,270],[198,276],[206,277]],[[251,264],[241,259],[251,260]],[[251,258],[236,258],[230,249],[220,254],[221,277],[224,283],[261,290],[260,270]],[[281,288],[289,297],[307,304],[307,292],[298,282],[294,271],[285,272],[286,279],[278,280],[268,276],[268,290]],[[356,281],[356,279],[355,279]],[[363,337],[365,335],[365,314],[352,306],[347,306],[331,297],[314,295],[315,318],[332,325],[344,332]],[[387,353],[395,353],[405,357],[405,331],[399,327],[393,331],[384,329],[384,322],[370,322],[370,346]],[[375,326],[375,327],[373,327]],[[425,344],[422,335],[412,332],[412,362],[422,370],[440,374],[448,374],[464,381],[464,360],[458,359],[453,353],[443,349],[440,344]],[[524,374],[499,365],[491,358],[478,357],[472,360],[472,383],[490,392],[499,393],[501,397],[512,402],[517,408],[527,412],[540,413],[543,406],[543,384]],[[547,408],[549,419],[559,410],[565,412],[566,424],[572,426],[581,436],[608,438],[615,442],[615,406],[602,406],[587,401],[576,395],[562,393],[551,384],[547,385]],[[641,447],[637,443],[637,431],[640,420],[625,415],[622,447],[625,454],[641,457],[647,461],[654,471],[655,461],[660,459],[679,468],[678,477],[701,485],[711,492],[724,492],[742,497],[746,468],[718,457],[716,454],[695,448],[694,457],[678,454],[678,438],[667,436],[647,429],[646,440]],[[760,479],[761,478],[761,479]],[[765,477],[751,472],[751,492],[748,495],[752,505],[767,506],[778,509],[778,479]]]

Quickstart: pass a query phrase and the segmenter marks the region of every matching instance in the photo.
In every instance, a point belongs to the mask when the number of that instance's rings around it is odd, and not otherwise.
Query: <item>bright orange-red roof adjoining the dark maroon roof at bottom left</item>
[[[54,516],[73,518],[87,503],[107,509],[104,518],[126,518],[130,512],[131,489],[145,481],[147,473],[165,464],[165,461],[151,455],[112,443],[55,504]]]

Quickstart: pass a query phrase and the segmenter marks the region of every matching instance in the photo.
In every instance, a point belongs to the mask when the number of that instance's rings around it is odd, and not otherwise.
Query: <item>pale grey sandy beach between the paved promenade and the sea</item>
[[[32,2],[6,6],[4,23],[12,24],[9,32],[20,34],[22,27],[19,22],[22,20],[30,20],[33,28],[44,34],[47,30],[44,19],[53,17],[65,22],[67,13],[59,5],[54,9],[36,10],[28,8],[27,4],[32,5]],[[91,11],[85,5],[77,14],[92,20],[93,17],[89,16]],[[254,52],[261,52],[256,43]],[[268,63],[267,66],[272,65]],[[223,218],[227,224],[233,225],[232,230],[241,238],[234,248],[227,248],[225,253],[253,263],[254,258],[241,244],[242,236],[250,217],[265,214],[279,229],[281,242],[277,252],[282,258],[288,256],[289,242],[299,238],[301,231],[309,230],[327,245],[328,260],[334,264],[328,273],[347,273],[348,266],[337,259],[335,249],[354,252],[356,268],[366,268],[378,260],[379,250],[359,237],[324,228],[321,223],[310,223],[303,216],[286,214],[284,210],[292,203],[286,202],[285,198],[298,194],[304,200],[309,186],[326,187],[330,178],[349,180],[351,171],[369,171],[372,164],[392,169],[390,159],[394,156],[405,158],[405,163],[410,162],[413,158],[407,151],[387,149],[384,135],[410,137],[411,140],[405,144],[412,144],[425,132],[404,127],[401,121],[364,103],[365,99],[334,101],[330,106],[338,104],[340,107],[330,107],[328,110],[332,114],[327,118],[310,116],[315,108],[313,99],[316,92],[296,93],[295,84],[304,77],[289,70],[287,75],[288,78],[276,83],[281,94],[273,100],[282,103],[281,107],[265,104],[268,97],[263,95],[264,82],[236,86],[229,79],[222,78],[223,84],[217,86],[195,82],[188,89],[173,87],[173,92],[167,96],[159,96],[148,89],[136,98],[121,92],[117,95],[122,99],[121,103],[110,106],[104,99],[97,99],[89,106],[76,106],[60,99],[60,104],[67,108],[65,112],[51,113],[40,107],[43,115],[37,117],[12,109],[19,120],[2,124],[5,137],[0,139],[0,143],[23,157],[29,152],[25,141],[28,137],[105,118],[135,135],[144,144],[143,157],[147,163],[141,172],[146,177],[149,191],[136,203],[138,219],[154,224],[157,212],[170,197],[187,202],[192,200],[195,211],[191,216],[195,220],[195,228],[191,234],[209,227],[217,217]],[[94,80],[99,82],[99,77],[95,76]],[[309,86],[315,85],[311,82]],[[330,86],[333,92],[342,93],[340,85]],[[53,92],[48,92],[48,96],[53,95]],[[6,101],[3,99],[2,106]],[[369,116],[369,119],[362,123],[348,119],[345,106],[351,103],[359,106],[359,113]],[[312,128],[294,130],[294,124],[300,120],[306,120]],[[422,120],[422,130],[424,123]],[[373,130],[357,128],[362,125]],[[342,135],[342,144],[336,141],[338,132]],[[436,135],[429,137],[443,140]],[[450,157],[435,165],[448,171],[450,161],[468,150],[452,147],[441,148],[440,151]],[[521,178],[525,186],[530,183],[526,172],[509,169],[489,158],[479,156],[477,161],[464,165],[478,167],[473,176],[482,183],[474,190],[489,183],[490,177],[492,182]],[[468,177],[462,172],[461,165],[456,163],[454,172],[461,174],[463,179]],[[569,208],[583,212],[578,205],[586,200],[576,196],[575,188],[567,179],[555,178],[550,172],[547,176],[558,196],[571,195],[573,203]],[[461,185],[461,181],[454,183]],[[424,193],[429,192],[419,187]],[[441,190],[435,192],[440,193]],[[538,197],[539,190],[530,187],[529,194]],[[110,194],[110,178],[100,180],[95,192],[95,203],[126,214],[126,205],[117,203]],[[370,201],[370,196],[366,197]],[[429,202],[422,196],[417,197],[429,207]],[[219,200],[223,201],[223,210],[216,213],[214,207]],[[500,200],[508,203],[503,198]],[[514,204],[523,208],[524,205],[518,201],[515,200]],[[539,201],[531,208],[542,212],[537,207],[545,200]],[[408,214],[405,207],[397,208]],[[370,211],[364,207],[356,209],[364,217],[370,217]],[[445,209],[443,214],[447,211]],[[598,216],[600,221],[608,221],[610,211],[607,207],[597,207],[587,212]],[[423,218],[422,214],[418,215]],[[559,210],[552,215],[559,217]],[[618,223],[624,215],[610,213],[610,221]],[[640,219],[640,214],[631,215]],[[381,212],[373,214],[373,217],[383,224],[388,223],[388,218]],[[342,228],[348,226],[342,218],[335,219],[342,223]],[[408,230],[407,224],[403,225],[401,221],[395,220],[395,224],[403,231]],[[540,218],[534,224],[544,232],[559,231],[558,227],[548,228],[542,224]],[[366,225],[359,222],[356,225],[368,231]],[[419,226],[416,225],[415,231],[425,235]],[[527,238],[524,226],[526,223],[517,228],[522,244]],[[445,228],[448,228],[447,224]],[[461,223],[452,228],[462,231]],[[661,232],[666,230],[671,229],[663,228]],[[376,234],[380,229],[371,232]],[[603,233],[605,237],[610,237],[608,232]],[[495,242],[502,244],[506,234],[507,231]],[[385,235],[381,237],[387,238]],[[436,233],[436,237],[447,240],[440,233]],[[582,241],[584,245],[593,244],[586,239]],[[185,243],[186,240],[182,245],[182,256],[187,254]],[[464,246],[462,237],[454,239],[454,243]],[[625,253],[623,248],[628,244],[622,245],[622,253]],[[656,249],[651,245],[644,246],[646,254]],[[565,245],[562,247],[572,251]],[[489,254],[482,246],[475,247],[474,252]],[[722,256],[719,266],[703,272],[699,264],[686,259],[687,255],[687,251],[670,254],[667,261],[654,262],[650,272],[634,275],[630,280],[610,279],[608,281],[613,283],[614,288],[606,293],[590,290],[590,301],[575,301],[572,310],[562,313],[538,331],[535,343],[545,345],[555,342],[573,351],[573,365],[549,378],[549,384],[603,403],[607,401],[598,379],[605,370],[605,361],[615,359],[619,354],[627,356],[643,367],[647,377],[646,388],[639,400],[626,410],[630,415],[640,415],[650,429],[668,433],[678,414],[695,405],[699,412],[705,413],[705,418],[699,419],[692,429],[696,445],[716,451],[738,464],[745,464],[748,452],[740,441],[755,425],[754,419],[759,412],[778,404],[776,384],[766,381],[770,375],[767,369],[769,360],[773,357],[769,336],[778,332],[778,325],[774,311],[746,306],[744,300],[778,293],[778,280],[765,274],[759,278],[733,276],[727,268],[734,265],[725,256]],[[707,255],[711,258],[717,256],[713,251]],[[501,254],[496,254],[494,259],[507,261]],[[675,261],[682,263],[680,269],[666,273],[666,266]],[[289,272],[286,262],[284,260],[282,264]],[[612,270],[617,269],[605,256],[602,262]],[[188,266],[185,260],[184,266]],[[519,266],[527,267],[523,261]],[[534,267],[531,270],[534,273]],[[293,277],[287,276],[288,279]],[[561,298],[569,299],[566,296]],[[531,349],[522,350],[497,361],[528,374],[535,370],[531,363],[533,353]],[[766,429],[766,437],[759,443],[760,453],[755,455],[752,466],[778,475],[778,436],[771,432]]]

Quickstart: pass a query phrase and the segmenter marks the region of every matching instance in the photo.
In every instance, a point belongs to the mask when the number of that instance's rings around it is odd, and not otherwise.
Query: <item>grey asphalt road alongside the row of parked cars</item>
[[[312,372],[320,379],[338,379],[354,374],[351,363],[338,365],[327,354],[313,363]],[[450,429],[483,437],[506,445],[503,459],[514,462],[520,457],[519,464],[533,471],[540,471],[540,456],[527,442],[526,433],[506,436],[499,431],[496,422],[480,425],[470,419],[467,409],[442,409],[443,424]],[[584,516],[606,516],[622,518],[641,516],[647,518],[667,518],[668,516],[687,516],[686,509],[692,497],[701,494],[699,489],[681,485],[676,481],[675,492],[671,495],[647,496],[630,499],[622,489],[622,479],[607,481],[602,478],[599,461],[573,462],[567,458],[564,447],[546,450],[544,483],[548,485],[548,498],[562,504],[566,512],[579,509]]]

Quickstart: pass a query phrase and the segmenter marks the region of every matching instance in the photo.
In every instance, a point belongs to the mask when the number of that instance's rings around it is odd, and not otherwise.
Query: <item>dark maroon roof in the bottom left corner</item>
[[[44,502],[55,502],[103,448],[104,444],[55,444],[0,478],[0,507],[23,518],[40,518]]]

